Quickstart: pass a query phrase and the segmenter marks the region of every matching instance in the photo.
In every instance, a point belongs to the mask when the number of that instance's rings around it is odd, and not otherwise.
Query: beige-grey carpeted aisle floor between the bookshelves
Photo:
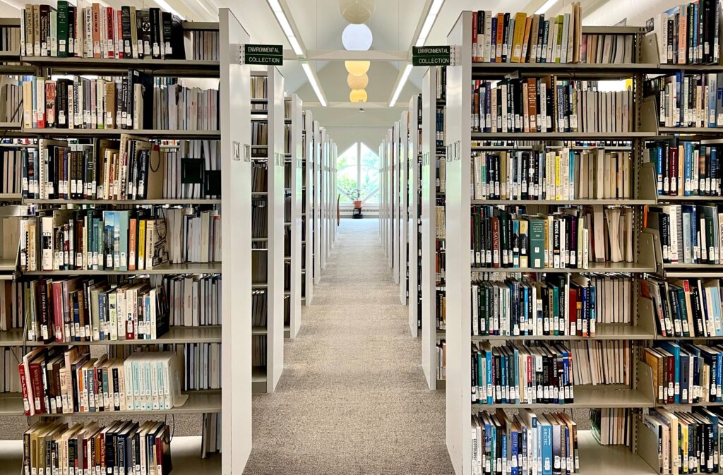
[[[244,474],[453,474],[377,221],[341,221],[275,393],[254,396]]]

